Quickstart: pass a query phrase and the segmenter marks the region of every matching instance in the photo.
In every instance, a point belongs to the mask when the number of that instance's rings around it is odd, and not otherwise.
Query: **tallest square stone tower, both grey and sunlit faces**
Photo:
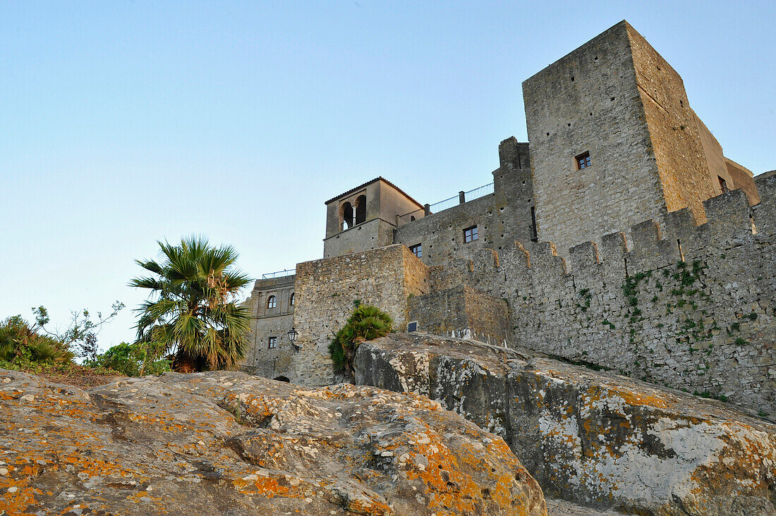
[[[523,97],[539,239],[558,249],[682,208],[704,223],[703,201],[752,184],[625,21],[523,82]]]

